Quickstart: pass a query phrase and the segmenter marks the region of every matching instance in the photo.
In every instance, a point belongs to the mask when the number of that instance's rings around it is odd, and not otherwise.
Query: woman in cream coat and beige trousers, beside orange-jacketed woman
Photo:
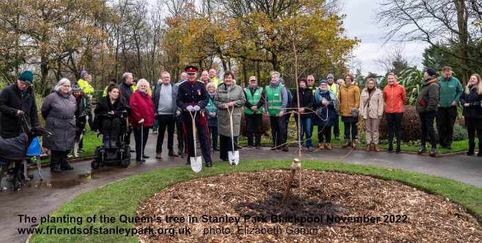
[[[371,144],[375,145],[375,151],[380,151],[378,147],[378,127],[381,116],[384,114],[384,94],[375,87],[375,79],[368,78],[366,88],[360,96],[360,115],[365,123],[366,151],[370,151]]]

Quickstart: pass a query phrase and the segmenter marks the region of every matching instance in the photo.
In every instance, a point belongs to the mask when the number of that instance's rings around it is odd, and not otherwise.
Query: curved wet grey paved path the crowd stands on
[[[134,141],[134,139],[132,139]],[[48,168],[43,169],[45,180],[39,181],[36,171],[34,180],[28,182],[20,192],[0,192],[0,242],[25,242],[28,235],[19,235],[17,228],[25,227],[19,223],[17,215],[45,216],[59,208],[79,194],[101,187],[109,182],[120,180],[127,176],[143,173],[154,169],[171,168],[185,165],[186,159],[169,158],[167,151],[163,152],[163,159],[156,160],[156,137],[149,136],[146,153],[151,156],[143,165],[137,166],[132,162],[132,168],[105,167],[91,172],[90,161],[74,163],[73,171],[61,174],[50,174]],[[465,155],[440,158],[417,156],[412,154],[388,154],[386,152],[367,153],[355,150],[348,156],[348,149],[333,149],[332,151],[304,152],[303,157],[311,160],[333,160],[350,162],[359,165],[377,165],[386,168],[416,171],[432,176],[440,176],[452,180],[459,180],[475,187],[482,188],[482,158]],[[134,155],[134,154],[133,154]],[[265,150],[240,150],[242,160],[247,159],[287,159],[296,158],[297,151],[291,147],[289,152]],[[213,154],[218,161],[219,155]],[[216,166],[214,163],[214,166]],[[242,166],[242,164],[240,164]],[[5,180],[5,179],[4,179]],[[2,184],[5,186],[5,182]]]

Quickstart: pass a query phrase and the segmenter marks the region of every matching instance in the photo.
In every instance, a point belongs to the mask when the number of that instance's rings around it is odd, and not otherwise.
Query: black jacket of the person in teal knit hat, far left
[[[0,136],[3,138],[13,138],[21,133],[18,110],[25,113],[30,125],[39,126],[34,89],[30,87],[26,92],[22,92],[14,83],[0,93]]]

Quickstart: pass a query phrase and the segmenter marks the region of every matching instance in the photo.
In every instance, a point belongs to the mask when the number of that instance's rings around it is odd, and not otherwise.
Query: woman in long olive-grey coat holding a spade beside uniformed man
[[[221,160],[228,161],[228,151],[235,151],[240,135],[241,114],[243,112],[246,97],[240,85],[236,85],[234,74],[230,71],[224,73],[224,83],[221,83],[214,95],[214,105],[218,108],[219,132],[219,156]],[[233,137],[234,148],[231,147],[231,125],[229,123],[229,112],[233,110]]]

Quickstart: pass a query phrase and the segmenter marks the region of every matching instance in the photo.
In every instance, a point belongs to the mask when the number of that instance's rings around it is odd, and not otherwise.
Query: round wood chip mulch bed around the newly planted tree
[[[163,189],[137,211],[154,222],[136,227],[158,232],[138,235],[140,242],[482,242],[481,224],[441,196],[368,176],[302,170],[301,186],[298,173],[280,205],[288,176],[284,170],[232,173]],[[165,219],[189,215],[198,222]],[[179,230],[185,226],[190,233]]]

